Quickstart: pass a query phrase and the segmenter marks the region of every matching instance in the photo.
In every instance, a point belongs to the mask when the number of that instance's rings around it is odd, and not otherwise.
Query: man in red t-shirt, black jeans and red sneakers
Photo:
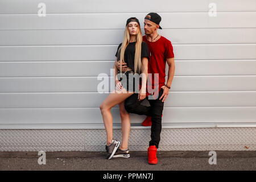
[[[143,100],[139,100],[139,94],[135,93],[125,100],[125,109],[129,113],[147,115],[142,123],[143,126],[151,126],[151,140],[148,147],[148,163],[157,164],[156,151],[160,142],[160,133],[162,130],[162,113],[164,101],[166,100],[171,88],[172,79],[175,72],[174,52],[170,40],[158,34],[158,28],[161,17],[156,13],[149,13],[144,18],[143,41],[147,43],[150,52],[148,60],[148,85],[146,99],[150,106],[141,105]],[[165,84],[166,62],[169,66],[168,80]],[[120,62],[116,63],[119,68]],[[126,69],[126,63],[122,68]],[[150,77],[150,73],[152,78]],[[150,89],[152,86],[152,89]],[[140,86],[141,88],[141,86]],[[153,93],[154,91],[154,93]],[[150,97],[150,98],[148,98]]]

